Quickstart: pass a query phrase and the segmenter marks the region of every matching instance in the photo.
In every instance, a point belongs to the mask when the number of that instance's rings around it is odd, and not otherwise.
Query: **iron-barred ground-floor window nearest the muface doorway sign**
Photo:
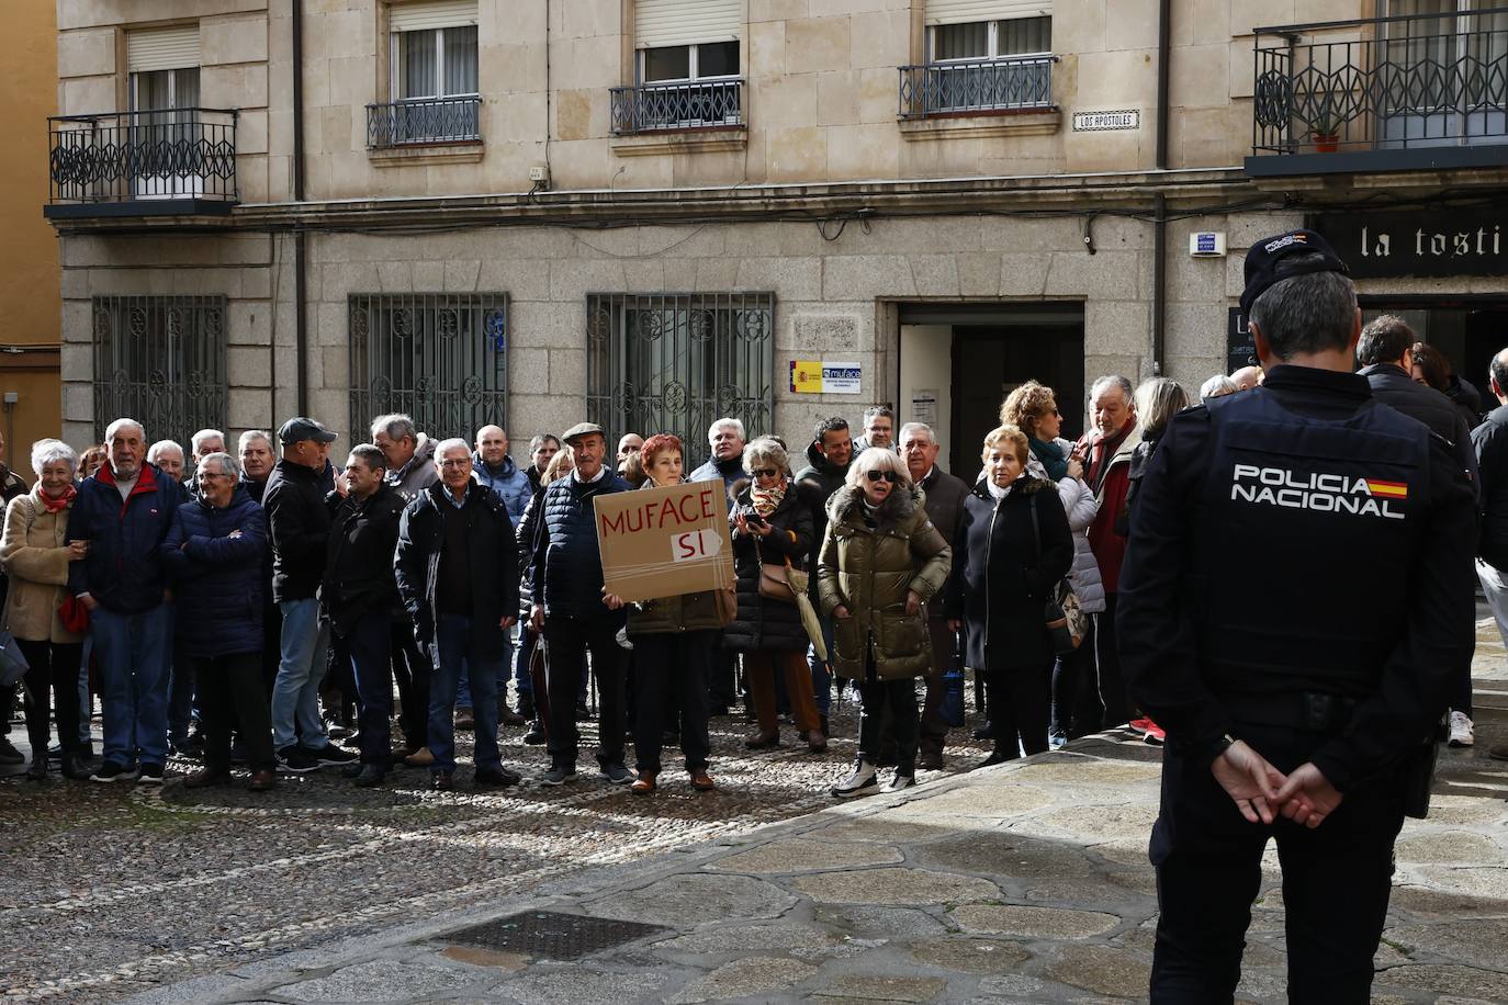
[[[671,432],[689,473],[715,419],[742,420],[749,438],[772,431],[774,374],[774,294],[587,297],[587,417],[609,441]]]

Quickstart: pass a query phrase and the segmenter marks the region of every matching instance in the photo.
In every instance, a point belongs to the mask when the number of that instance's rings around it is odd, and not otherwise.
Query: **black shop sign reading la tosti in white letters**
[[[1419,209],[1309,217],[1356,279],[1508,274],[1508,212]]]

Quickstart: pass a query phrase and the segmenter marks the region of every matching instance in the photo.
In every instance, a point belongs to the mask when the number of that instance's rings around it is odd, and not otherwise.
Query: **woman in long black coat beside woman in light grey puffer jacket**
[[[1047,750],[1053,639],[1045,607],[1074,561],[1074,538],[1053,482],[1027,472],[1027,437],[985,437],[985,475],[964,500],[947,616],[968,625],[965,664],[983,672],[995,750],[985,765]]]

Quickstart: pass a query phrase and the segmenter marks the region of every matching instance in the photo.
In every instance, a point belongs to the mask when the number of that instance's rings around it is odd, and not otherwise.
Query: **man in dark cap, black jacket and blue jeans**
[[[273,539],[273,600],[282,612],[282,660],[273,683],[273,746],[279,771],[350,764],[354,753],[330,743],[320,720],[320,681],[330,624],[315,592],[324,579],[330,509],[324,469],[335,434],[314,419],[290,419],[277,431],[282,460],[267,478],[262,506]]]

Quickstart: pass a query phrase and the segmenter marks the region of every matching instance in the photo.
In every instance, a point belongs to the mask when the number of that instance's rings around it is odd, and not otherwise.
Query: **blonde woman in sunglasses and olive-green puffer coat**
[[[860,454],[828,500],[817,562],[822,610],[832,618],[832,672],[858,684],[861,702],[858,761],[832,787],[838,799],[879,791],[875,765],[887,708],[899,756],[885,791],[917,780],[917,678],[932,672],[926,606],[953,564],[921,503],[906,463],[884,448]]]

